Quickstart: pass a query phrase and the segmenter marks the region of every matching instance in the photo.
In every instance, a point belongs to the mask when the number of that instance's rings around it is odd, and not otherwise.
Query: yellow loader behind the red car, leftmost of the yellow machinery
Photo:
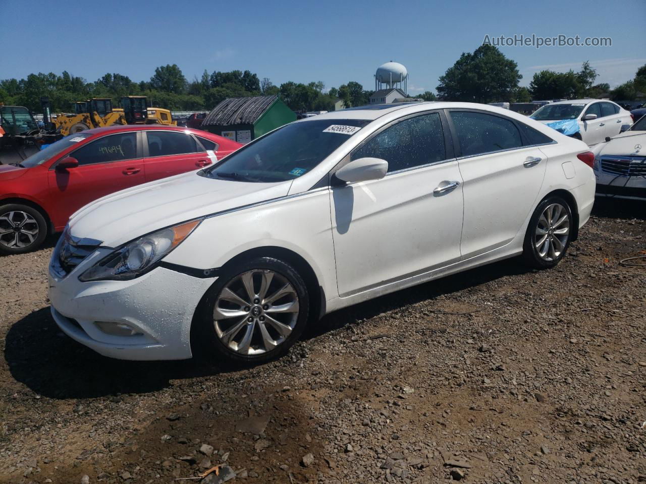
[[[74,103],[74,114],[52,117],[54,128],[63,136],[112,125],[128,124],[122,109],[112,109],[112,99],[94,98]]]

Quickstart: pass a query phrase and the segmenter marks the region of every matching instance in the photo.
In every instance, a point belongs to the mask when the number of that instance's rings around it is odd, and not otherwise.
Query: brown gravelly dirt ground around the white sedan
[[[0,482],[645,482],[646,269],[619,264],[645,219],[598,203],[554,270],[381,297],[228,372],[98,356],[50,318],[53,241],[0,257]]]

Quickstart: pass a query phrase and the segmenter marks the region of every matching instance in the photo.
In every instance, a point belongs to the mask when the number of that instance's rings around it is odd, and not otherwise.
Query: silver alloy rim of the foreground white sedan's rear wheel
[[[545,207],[538,219],[534,234],[534,247],[541,259],[552,262],[558,259],[570,237],[570,216],[560,203]]]

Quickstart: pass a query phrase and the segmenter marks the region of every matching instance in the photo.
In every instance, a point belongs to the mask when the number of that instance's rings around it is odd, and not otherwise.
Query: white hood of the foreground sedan
[[[121,190],[70,217],[70,234],[118,247],[170,225],[286,196],[291,181],[246,183],[211,179],[196,172]]]

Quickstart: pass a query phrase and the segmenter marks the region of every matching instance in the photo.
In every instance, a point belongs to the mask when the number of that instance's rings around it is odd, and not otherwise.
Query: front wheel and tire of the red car
[[[47,221],[35,208],[18,203],[0,206],[0,254],[23,254],[41,246]]]

